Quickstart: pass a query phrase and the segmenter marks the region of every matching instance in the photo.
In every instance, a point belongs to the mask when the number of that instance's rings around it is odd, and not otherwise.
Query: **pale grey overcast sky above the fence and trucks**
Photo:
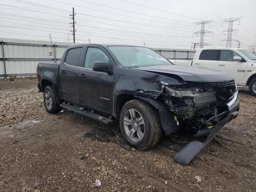
[[[57,2],[58,1],[58,2]],[[1,0],[0,37],[73,42],[69,14],[75,8],[76,42],[190,49],[200,42],[196,22],[212,20],[204,37],[211,47],[227,38],[222,19],[240,18],[232,34],[242,48],[256,42],[256,0]],[[238,42],[233,41],[232,47]]]

